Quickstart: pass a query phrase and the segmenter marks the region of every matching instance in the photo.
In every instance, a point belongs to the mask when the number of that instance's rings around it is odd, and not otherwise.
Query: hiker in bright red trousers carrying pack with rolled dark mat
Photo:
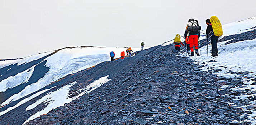
[[[198,53],[198,38],[200,37],[201,26],[199,26],[198,21],[194,19],[189,19],[184,37],[186,38],[189,33],[189,47],[191,51],[191,55],[194,56],[194,46],[195,46],[195,54],[199,56]]]

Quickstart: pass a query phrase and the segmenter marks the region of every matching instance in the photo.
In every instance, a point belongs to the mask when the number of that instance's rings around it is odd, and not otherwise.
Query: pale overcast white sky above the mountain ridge
[[[214,2],[214,3],[212,3]],[[184,35],[190,18],[256,16],[256,0],[0,0],[0,59],[67,46],[140,47]]]

